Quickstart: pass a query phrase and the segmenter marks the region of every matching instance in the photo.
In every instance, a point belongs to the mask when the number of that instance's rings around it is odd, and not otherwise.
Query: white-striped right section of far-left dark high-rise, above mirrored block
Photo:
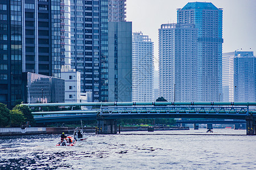
[[[60,78],[60,0],[23,3],[23,72]]]

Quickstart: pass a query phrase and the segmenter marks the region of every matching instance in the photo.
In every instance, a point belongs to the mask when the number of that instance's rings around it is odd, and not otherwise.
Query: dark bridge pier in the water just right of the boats
[[[98,118],[98,134],[117,134],[117,121]]]

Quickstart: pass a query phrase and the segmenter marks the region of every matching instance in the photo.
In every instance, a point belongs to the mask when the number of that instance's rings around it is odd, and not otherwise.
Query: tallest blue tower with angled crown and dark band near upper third
[[[218,101],[222,90],[222,8],[210,2],[189,2],[177,10],[177,23],[195,24],[197,101]]]

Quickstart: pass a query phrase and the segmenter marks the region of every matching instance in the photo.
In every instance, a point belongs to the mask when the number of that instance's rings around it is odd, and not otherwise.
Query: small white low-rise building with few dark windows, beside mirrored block
[[[61,79],[65,80],[65,103],[81,102],[80,72],[71,69],[68,65],[63,66],[61,68]]]

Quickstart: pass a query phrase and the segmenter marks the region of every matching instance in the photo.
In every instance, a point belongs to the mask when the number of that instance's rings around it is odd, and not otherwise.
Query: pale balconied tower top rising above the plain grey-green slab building
[[[109,0],[109,22],[125,22],[126,0]]]

